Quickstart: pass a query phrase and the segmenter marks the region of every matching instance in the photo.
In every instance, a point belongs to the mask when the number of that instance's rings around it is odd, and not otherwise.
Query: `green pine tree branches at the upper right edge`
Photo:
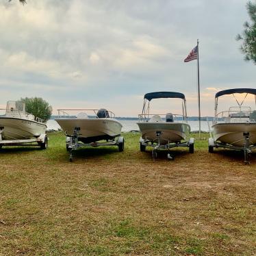
[[[246,21],[242,35],[238,34],[236,39],[242,40],[240,49],[245,55],[244,60],[251,60],[256,64],[256,1],[255,3],[248,1],[246,9],[251,18],[251,24]]]

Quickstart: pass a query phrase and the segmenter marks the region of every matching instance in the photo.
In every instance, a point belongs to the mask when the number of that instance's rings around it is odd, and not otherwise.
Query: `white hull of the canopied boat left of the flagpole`
[[[181,142],[181,140],[187,140],[190,135],[190,125],[187,123],[141,122],[137,124],[144,140],[158,142],[156,132],[161,131],[161,144]]]

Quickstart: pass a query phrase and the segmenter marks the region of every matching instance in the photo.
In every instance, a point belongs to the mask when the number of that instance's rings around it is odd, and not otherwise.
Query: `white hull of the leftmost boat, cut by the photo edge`
[[[0,127],[3,127],[3,140],[23,140],[39,137],[47,129],[47,125],[43,123],[7,116],[0,117]]]

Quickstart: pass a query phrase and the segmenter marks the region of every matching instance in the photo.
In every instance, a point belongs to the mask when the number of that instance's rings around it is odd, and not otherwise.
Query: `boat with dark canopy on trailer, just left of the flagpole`
[[[181,99],[182,114],[150,114],[150,103],[153,99]],[[157,150],[176,146],[188,146],[190,153],[194,153],[194,138],[190,138],[190,125],[187,122],[185,95],[180,92],[149,92],[144,94],[142,114],[139,114],[140,151],[146,146],[153,148],[153,158],[157,157]],[[168,159],[173,159],[168,152]]]

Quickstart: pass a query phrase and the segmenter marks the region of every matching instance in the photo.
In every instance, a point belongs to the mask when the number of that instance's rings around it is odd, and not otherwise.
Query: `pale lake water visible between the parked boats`
[[[118,120],[122,125],[122,131],[138,130],[137,120]],[[188,121],[191,131],[199,131],[199,121]],[[212,125],[212,122],[209,122]],[[48,120],[47,129],[57,131],[60,125],[55,120]],[[201,131],[209,131],[207,121],[201,121]]]

